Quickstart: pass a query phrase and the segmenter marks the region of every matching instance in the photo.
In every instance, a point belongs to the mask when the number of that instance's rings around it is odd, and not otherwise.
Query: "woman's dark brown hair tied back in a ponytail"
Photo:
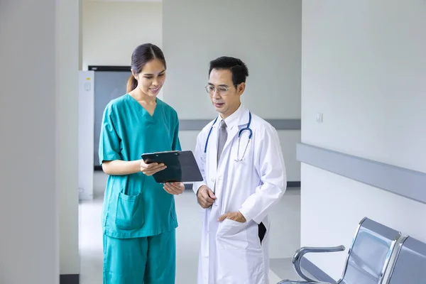
[[[157,45],[153,45],[152,43],[139,45],[131,54],[131,69],[133,69],[135,74],[139,74],[146,63],[154,60],[155,58],[161,60],[164,64],[164,68],[166,68],[163,51],[158,48]],[[136,87],[138,87],[138,81],[133,75],[130,75],[129,80],[127,81],[126,92],[131,92],[133,89],[136,89]]]

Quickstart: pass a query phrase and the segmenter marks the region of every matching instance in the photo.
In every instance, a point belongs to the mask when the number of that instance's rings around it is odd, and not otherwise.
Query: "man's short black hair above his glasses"
[[[238,58],[231,58],[229,56],[222,56],[210,61],[209,76],[213,69],[231,70],[234,86],[246,82],[246,77],[249,76],[249,69],[246,64]]]

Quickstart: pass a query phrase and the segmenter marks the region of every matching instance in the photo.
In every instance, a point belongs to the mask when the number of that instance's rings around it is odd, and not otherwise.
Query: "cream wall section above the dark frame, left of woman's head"
[[[83,68],[130,65],[141,43],[162,45],[162,4],[83,0]],[[167,59],[167,58],[166,58]]]

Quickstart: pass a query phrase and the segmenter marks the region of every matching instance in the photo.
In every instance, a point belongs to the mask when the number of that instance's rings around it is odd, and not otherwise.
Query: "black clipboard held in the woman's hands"
[[[153,175],[158,183],[165,182],[200,182],[203,180],[192,151],[165,151],[144,153],[145,163],[163,163],[167,166]]]

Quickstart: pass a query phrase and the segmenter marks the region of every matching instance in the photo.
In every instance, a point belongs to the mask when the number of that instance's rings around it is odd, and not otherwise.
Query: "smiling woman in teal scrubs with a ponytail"
[[[158,184],[165,165],[141,154],[180,151],[176,111],[157,98],[165,82],[163,52],[143,44],[133,51],[127,94],[104,111],[99,160],[107,173],[102,210],[104,284],[175,283],[175,198],[181,182]]]

